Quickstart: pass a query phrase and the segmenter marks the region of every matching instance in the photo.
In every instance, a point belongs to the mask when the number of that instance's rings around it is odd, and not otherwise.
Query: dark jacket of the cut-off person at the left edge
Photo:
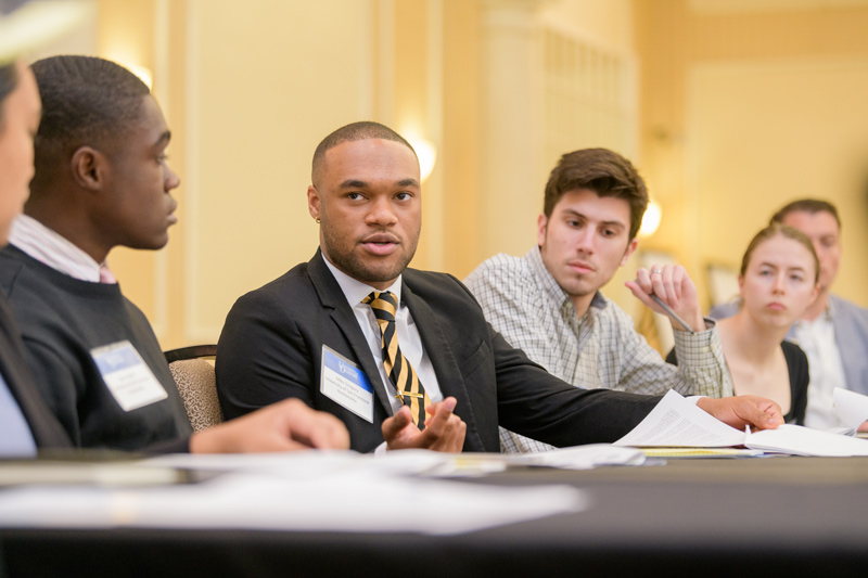
[[[0,295],[0,372],[18,402],[39,448],[71,448],[66,431],[48,409],[33,382],[24,357],[21,330],[4,296]]]

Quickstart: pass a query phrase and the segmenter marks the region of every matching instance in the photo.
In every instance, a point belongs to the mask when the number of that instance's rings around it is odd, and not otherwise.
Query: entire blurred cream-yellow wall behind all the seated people
[[[559,155],[608,146],[662,208],[640,248],[703,305],[710,265],[817,196],[844,219],[834,290],[868,306],[868,0],[80,1],[90,18],[34,56],[150,75],[173,129],[180,223],[110,256],[166,349],[216,342],[240,295],[312,256],[312,151],[359,119],[436,154],[414,267],[524,254]],[[640,259],[604,290],[637,318]]]

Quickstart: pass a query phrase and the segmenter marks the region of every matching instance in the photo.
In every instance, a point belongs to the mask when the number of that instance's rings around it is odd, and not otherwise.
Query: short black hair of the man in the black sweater
[[[34,141],[36,171],[85,144],[99,147],[141,115],[148,85],[119,64],[94,56],[51,56],[33,64],[42,121]]]

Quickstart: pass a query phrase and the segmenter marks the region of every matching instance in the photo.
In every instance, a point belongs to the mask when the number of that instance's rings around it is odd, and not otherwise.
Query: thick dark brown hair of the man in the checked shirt
[[[608,149],[566,153],[546,183],[542,213],[551,217],[554,205],[570,191],[587,189],[599,196],[623,198],[630,206],[630,239],[635,239],[648,208],[648,190],[633,164]]]

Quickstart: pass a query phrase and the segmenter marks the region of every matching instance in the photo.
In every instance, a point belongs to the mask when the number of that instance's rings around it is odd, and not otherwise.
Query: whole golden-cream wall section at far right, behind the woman
[[[844,218],[834,288],[868,305],[866,2],[634,5],[642,165],[664,210],[646,245],[704,290],[704,267],[739,262],[776,208],[828,198]]]

